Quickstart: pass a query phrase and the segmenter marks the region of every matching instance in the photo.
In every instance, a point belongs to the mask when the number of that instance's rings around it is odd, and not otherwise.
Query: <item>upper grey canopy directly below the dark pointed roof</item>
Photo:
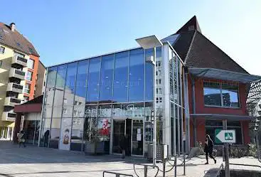
[[[215,68],[188,68],[189,73],[196,77],[208,77],[218,80],[231,80],[235,82],[251,83],[261,80],[261,76],[237,73],[228,70],[218,70]]]

